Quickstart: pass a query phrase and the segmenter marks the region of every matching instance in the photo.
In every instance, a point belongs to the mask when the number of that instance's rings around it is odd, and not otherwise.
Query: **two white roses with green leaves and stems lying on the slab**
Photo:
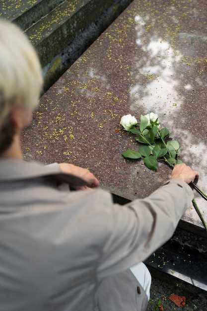
[[[172,168],[175,164],[182,163],[179,158],[181,151],[179,142],[170,139],[170,131],[160,126],[157,114],[151,112],[145,116],[141,115],[139,123],[134,116],[128,114],[121,118],[120,123],[125,131],[136,135],[135,140],[140,145],[138,150],[124,151],[122,156],[125,158],[142,159],[144,164],[152,170],[157,170],[158,161],[164,161]],[[195,183],[191,183],[191,186],[207,200],[207,195]],[[207,231],[207,225],[195,199],[192,202]]]

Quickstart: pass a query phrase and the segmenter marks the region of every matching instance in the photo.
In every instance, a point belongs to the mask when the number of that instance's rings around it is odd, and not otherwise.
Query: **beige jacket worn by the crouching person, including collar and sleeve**
[[[58,164],[0,160],[0,311],[92,311],[100,282],[168,240],[193,199],[171,180],[119,206],[66,186],[81,182]]]

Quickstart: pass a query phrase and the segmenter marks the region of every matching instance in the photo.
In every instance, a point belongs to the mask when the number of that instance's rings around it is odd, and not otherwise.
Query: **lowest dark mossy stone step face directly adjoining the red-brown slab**
[[[96,0],[95,0],[96,1]],[[92,1],[91,1],[92,2]],[[43,68],[43,74],[45,79],[45,90],[47,90],[55,81],[63,75],[63,73],[81,56],[81,54],[98,38],[98,36],[116,19],[117,16],[132,2],[132,0],[116,0],[112,2],[110,6],[110,1],[104,2],[105,9],[101,9],[100,15],[97,14],[97,10],[94,6],[93,18],[86,20],[84,28],[79,29],[78,25],[82,20],[83,15],[79,16],[78,12],[76,15],[77,27],[76,30],[72,26],[67,29],[73,28],[74,39],[71,41],[71,36],[68,41],[65,40],[63,45],[65,48],[62,50],[59,48],[58,43],[57,47],[61,52]],[[95,3],[95,2],[94,2]],[[96,4],[98,5],[97,1]],[[87,11],[85,11],[87,15]],[[78,24],[79,23],[79,24]],[[50,46],[46,45],[46,49],[50,50]],[[53,50],[54,54],[57,53],[57,50]],[[49,54],[49,53],[48,53]]]

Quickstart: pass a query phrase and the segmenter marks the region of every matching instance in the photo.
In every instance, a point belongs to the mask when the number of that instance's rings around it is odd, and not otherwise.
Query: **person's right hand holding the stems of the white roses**
[[[173,168],[171,179],[182,179],[189,184],[194,181],[196,176],[199,176],[199,172],[193,170],[190,166],[186,164],[177,164]]]

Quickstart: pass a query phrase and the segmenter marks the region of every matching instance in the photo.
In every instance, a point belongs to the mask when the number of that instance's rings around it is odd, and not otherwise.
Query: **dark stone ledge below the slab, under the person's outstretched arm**
[[[194,293],[207,293],[206,238],[177,229],[173,237],[146,261],[150,272]]]

